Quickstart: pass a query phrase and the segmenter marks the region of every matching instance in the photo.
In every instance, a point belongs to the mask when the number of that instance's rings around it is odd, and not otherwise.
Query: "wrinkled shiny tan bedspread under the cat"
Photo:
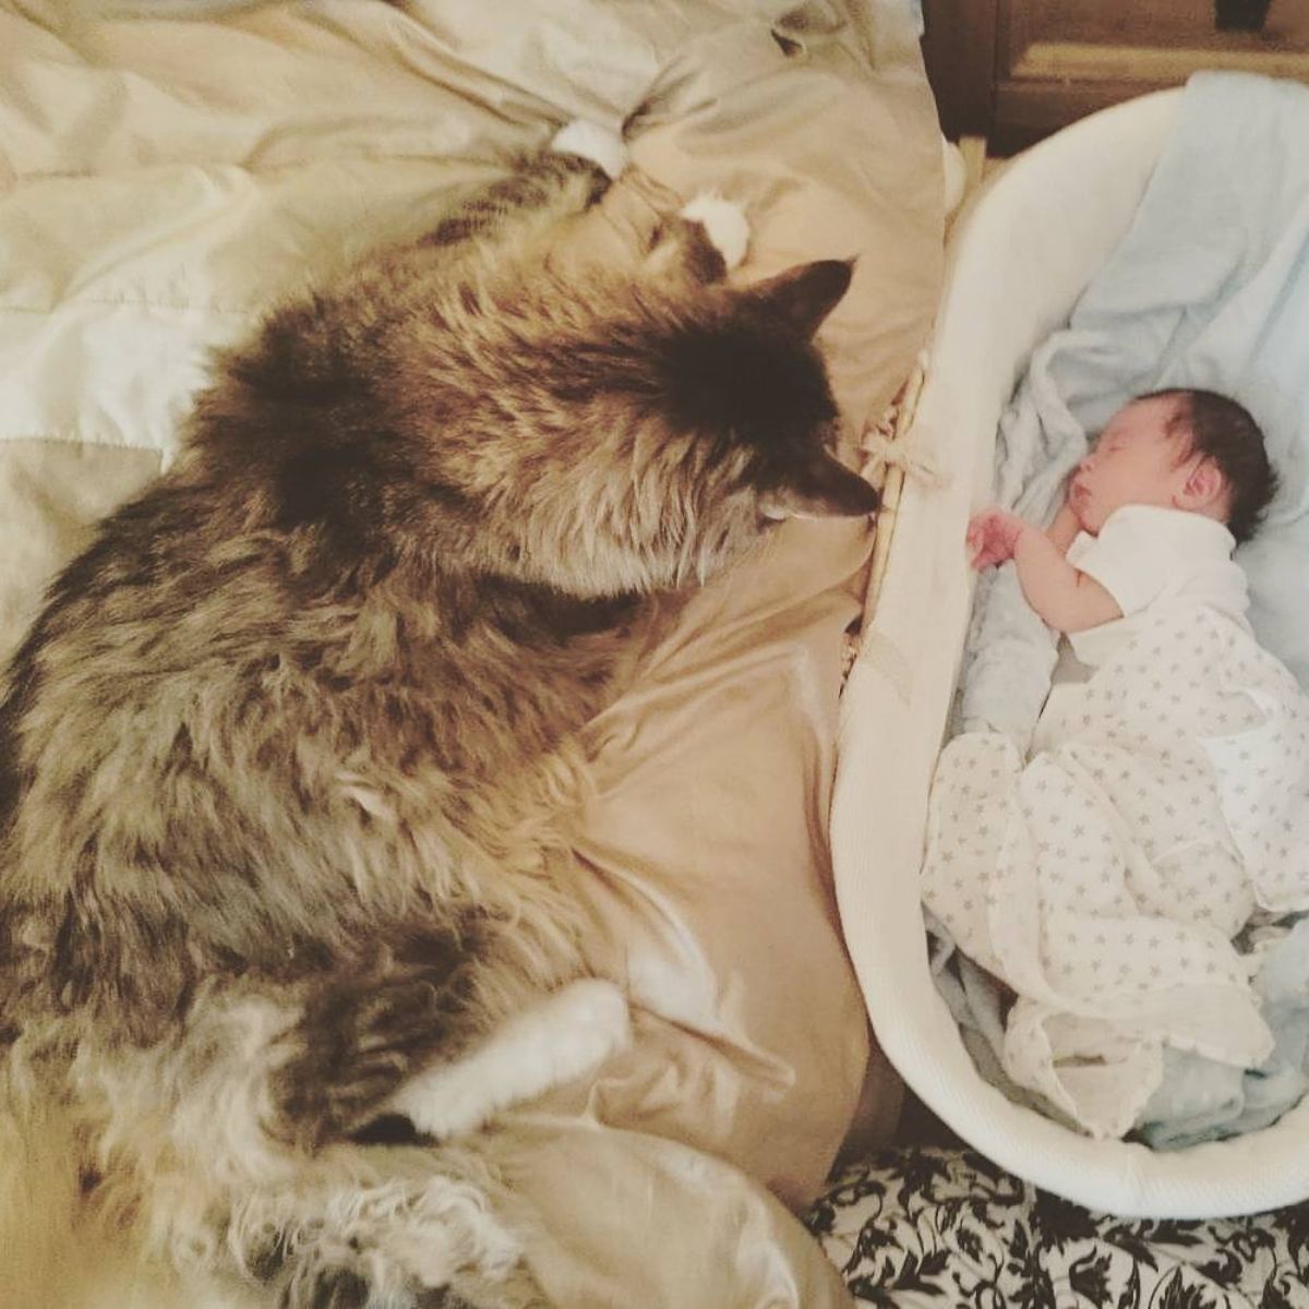
[[[161,8],[0,9],[0,648],[94,520],[170,458],[212,347],[424,230],[573,117],[624,130],[635,165],[579,229],[593,251],[630,254],[716,187],[751,219],[746,280],[859,257],[822,338],[852,431],[912,367],[941,177],[907,5],[101,16]],[[692,600],[592,725],[579,856],[628,942],[637,1041],[496,1136],[533,1268],[571,1309],[627,1306],[632,1287],[683,1309],[844,1300],[785,1206],[816,1192],[861,1094],[872,1138],[898,1105],[829,885],[842,634],[868,548],[864,525],[787,525]],[[45,1221],[43,1164],[26,1162],[30,1203],[0,1215],[0,1302],[16,1287],[25,1309],[238,1302]]]

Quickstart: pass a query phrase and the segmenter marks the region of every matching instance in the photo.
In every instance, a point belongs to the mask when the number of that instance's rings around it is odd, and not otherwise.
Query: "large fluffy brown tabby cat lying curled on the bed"
[[[295,1309],[535,1302],[475,1157],[372,1124],[622,1039],[572,734],[651,597],[876,507],[812,343],[848,264],[732,289],[678,217],[565,275],[603,182],[546,153],[271,313],[8,670],[5,1111],[69,1106],[88,1203]]]

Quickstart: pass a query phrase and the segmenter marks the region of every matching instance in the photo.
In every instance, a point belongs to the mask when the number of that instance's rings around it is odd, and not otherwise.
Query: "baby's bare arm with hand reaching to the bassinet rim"
[[[1063,528],[1064,531],[1059,531]],[[1066,533],[1059,518],[1051,535],[1004,509],[984,509],[969,524],[969,546],[973,567],[986,568],[1012,559],[1018,569],[1018,583],[1028,603],[1041,620],[1059,632],[1081,632],[1122,618],[1118,602],[1103,586],[1067,559],[1067,545],[1052,539]]]

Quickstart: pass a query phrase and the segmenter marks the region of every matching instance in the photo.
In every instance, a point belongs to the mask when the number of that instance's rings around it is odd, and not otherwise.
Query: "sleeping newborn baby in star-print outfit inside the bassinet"
[[[1275,484],[1240,404],[1160,391],[1113,418],[1049,530],[969,526],[1085,677],[1026,758],[1000,732],[942,751],[924,903],[1012,991],[1005,1073],[1096,1136],[1132,1128],[1165,1049],[1271,1049],[1233,937],[1309,907],[1309,700],[1255,641],[1232,550]]]

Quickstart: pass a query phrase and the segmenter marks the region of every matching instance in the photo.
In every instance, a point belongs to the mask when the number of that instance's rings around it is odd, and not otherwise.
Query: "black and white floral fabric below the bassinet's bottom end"
[[[856,1301],[888,1309],[1309,1309],[1309,1203],[1119,1219],[915,1147],[836,1177],[808,1221]]]

